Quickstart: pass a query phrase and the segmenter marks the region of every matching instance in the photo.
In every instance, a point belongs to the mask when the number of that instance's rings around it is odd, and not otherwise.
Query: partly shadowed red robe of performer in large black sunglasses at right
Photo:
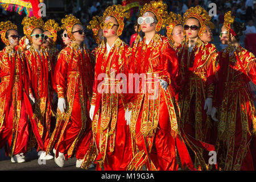
[[[205,100],[213,98],[214,94],[214,68],[213,63],[217,57],[217,49],[213,44],[197,40],[192,52],[189,52],[188,42],[177,48],[179,71],[182,89],[179,94],[181,111],[181,126],[187,136],[201,142],[214,144],[216,139],[214,122],[204,110]],[[209,169],[208,148],[197,148],[191,142],[188,144],[196,154],[195,167]],[[193,142],[192,142],[193,143]],[[193,152],[190,151],[192,158]],[[197,160],[198,159],[198,160]]]

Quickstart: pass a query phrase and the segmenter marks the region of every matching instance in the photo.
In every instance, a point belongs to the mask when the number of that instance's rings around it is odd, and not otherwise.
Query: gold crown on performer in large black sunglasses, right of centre
[[[184,22],[191,17],[199,20],[200,26],[201,26],[199,31],[199,36],[203,36],[204,29],[205,29],[205,22],[209,22],[211,17],[208,15],[207,11],[205,11],[205,9],[203,9],[203,7],[201,6],[191,7],[187,11],[185,11],[183,15]]]

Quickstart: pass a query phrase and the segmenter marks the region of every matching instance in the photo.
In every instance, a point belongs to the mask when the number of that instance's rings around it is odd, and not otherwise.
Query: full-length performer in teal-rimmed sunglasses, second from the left
[[[27,65],[28,77],[31,81],[32,94],[35,96],[34,117],[38,125],[40,137],[44,147],[38,147],[40,159],[53,159],[52,155],[46,155],[49,143],[52,115],[52,64],[49,55],[42,47],[44,34],[44,22],[41,18],[32,16],[22,20],[23,31],[30,41],[31,47],[24,51],[24,60]],[[31,141],[31,147],[33,143]]]

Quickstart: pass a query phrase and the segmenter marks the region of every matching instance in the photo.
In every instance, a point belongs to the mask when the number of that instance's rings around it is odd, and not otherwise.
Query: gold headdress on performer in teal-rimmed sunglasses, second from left
[[[40,28],[43,30],[44,21],[42,18],[36,18],[35,16],[27,17],[25,16],[22,20],[23,31],[27,36],[27,39],[32,42],[31,33],[35,28]]]

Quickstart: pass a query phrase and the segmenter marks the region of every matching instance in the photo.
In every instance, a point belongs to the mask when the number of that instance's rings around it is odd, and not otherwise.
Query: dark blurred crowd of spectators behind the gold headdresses
[[[168,11],[173,11],[174,13],[178,13],[183,15],[184,12],[189,9],[189,7],[200,5],[204,7],[205,10],[210,10],[212,7],[209,7],[210,3],[216,3],[216,16],[213,16],[212,22],[215,25],[215,30],[213,31],[214,35],[214,44],[218,49],[222,49],[222,45],[220,44],[218,35],[220,33],[220,28],[224,22],[224,14],[231,10],[233,15],[236,16],[236,19],[239,22],[244,22],[247,25],[247,30],[245,31],[245,35],[241,39],[241,44],[243,47],[245,46],[254,46],[255,40],[254,38],[246,38],[246,34],[256,34],[255,30],[255,16],[256,16],[256,1],[253,0],[166,0],[164,1],[168,5]],[[95,15],[102,15],[106,7],[113,4],[122,4],[122,0],[97,0],[97,1],[88,1],[88,0],[64,0],[64,1],[49,1],[45,0],[46,4],[46,17],[43,19],[46,21],[49,18],[55,19],[57,22],[61,24],[61,18],[64,18],[66,14],[74,14],[79,18],[86,28],[89,24],[89,21]],[[0,6],[1,7],[1,6]],[[139,7],[134,7],[130,13],[130,18],[126,19],[125,28],[121,39],[124,40],[127,44],[130,44],[131,35],[135,33],[134,24],[137,22]],[[0,8],[0,21],[3,20],[11,20],[15,24],[18,25],[19,34],[23,35],[23,29],[21,26],[21,22],[23,17],[26,16],[25,13],[19,15],[15,12],[5,11],[2,7]],[[61,34],[61,32],[60,32]],[[86,45],[90,50],[92,50],[96,43],[93,40],[92,32],[86,31]],[[57,42],[57,48],[61,48],[61,41]],[[245,45],[246,44],[246,45]],[[3,44],[0,45],[1,49],[3,48]]]

